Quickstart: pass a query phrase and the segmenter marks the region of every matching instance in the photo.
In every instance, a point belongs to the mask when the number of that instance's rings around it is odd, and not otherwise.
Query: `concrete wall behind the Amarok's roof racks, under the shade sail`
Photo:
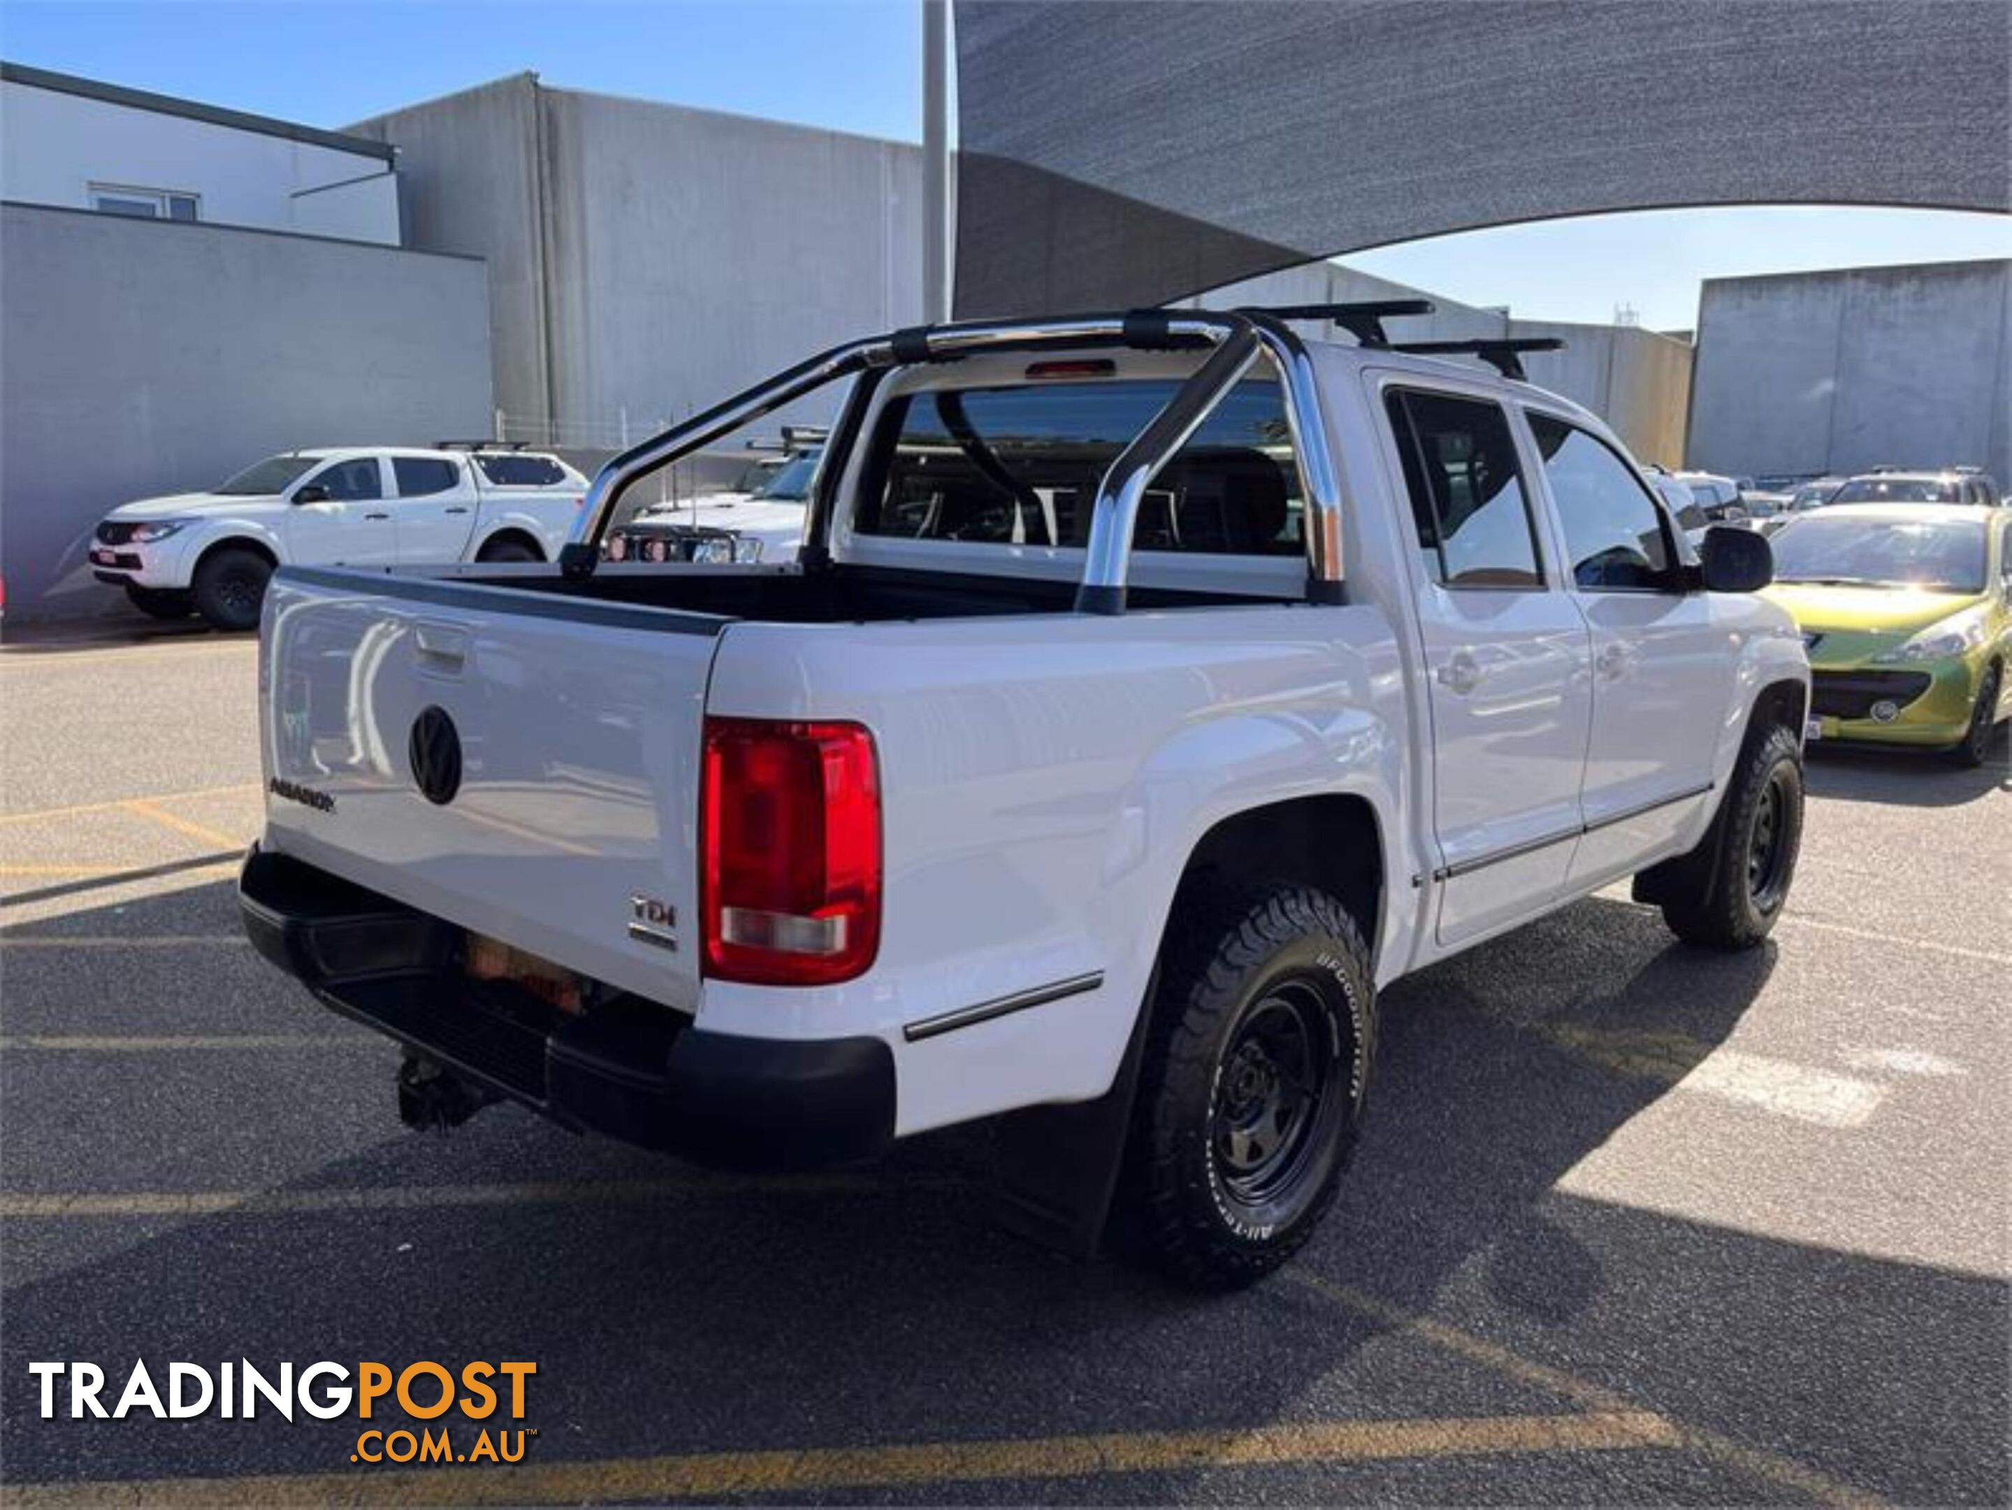
[[[1686,401],[1692,348],[1682,340],[1628,326],[1519,320],[1503,310],[1431,294],[1354,268],[1316,262],[1264,278],[1217,288],[1187,304],[1235,308],[1237,304],[1346,304],[1382,298],[1431,298],[1431,316],[1390,322],[1394,340],[1473,340],[1501,336],[1557,336],[1561,352],[1525,358],[1529,381],[1561,393],[1608,421],[1640,461],[1678,467],[1684,459]],[[1302,326],[1308,336],[1332,340],[1332,326]],[[1346,336],[1342,336],[1346,340]],[[1453,358],[1467,360],[1473,358]]]

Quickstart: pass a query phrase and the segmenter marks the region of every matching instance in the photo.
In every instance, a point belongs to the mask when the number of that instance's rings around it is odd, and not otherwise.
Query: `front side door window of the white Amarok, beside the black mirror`
[[[1662,509],[1606,441],[1549,415],[1531,415],[1571,580],[1589,592],[1670,590],[1670,540]]]

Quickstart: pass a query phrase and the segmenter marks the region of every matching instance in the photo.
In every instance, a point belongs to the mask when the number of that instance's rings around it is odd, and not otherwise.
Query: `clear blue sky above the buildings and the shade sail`
[[[0,0],[0,56],[322,127],[529,68],[569,89],[921,137],[915,0]],[[2002,217],[1754,207],[1473,232],[1348,262],[1537,318],[1630,304],[1646,326],[1682,328],[1700,278],[1988,256],[2012,256]]]

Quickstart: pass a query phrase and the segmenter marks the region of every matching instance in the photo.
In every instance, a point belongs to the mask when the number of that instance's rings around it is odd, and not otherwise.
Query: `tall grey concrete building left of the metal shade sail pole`
[[[531,74],[348,131],[398,147],[410,246],[489,260],[513,439],[614,445],[624,413],[642,437],[921,314],[911,145]]]

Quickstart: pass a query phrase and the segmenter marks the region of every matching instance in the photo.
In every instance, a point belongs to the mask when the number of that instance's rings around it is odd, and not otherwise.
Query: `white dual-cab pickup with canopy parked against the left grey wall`
[[[547,562],[585,495],[565,461],[521,447],[288,451],[207,493],[113,509],[89,556],[143,614],[247,630],[278,566]]]

